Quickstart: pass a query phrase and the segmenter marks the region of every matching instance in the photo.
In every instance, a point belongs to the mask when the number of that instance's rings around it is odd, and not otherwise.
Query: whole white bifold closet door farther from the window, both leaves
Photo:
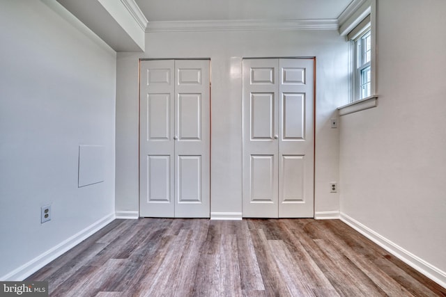
[[[141,61],[139,214],[210,216],[208,60]]]

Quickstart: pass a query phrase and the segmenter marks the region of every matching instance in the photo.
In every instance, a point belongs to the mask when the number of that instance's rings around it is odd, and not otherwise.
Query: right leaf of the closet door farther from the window
[[[175,61],[175,216],[210,217],[210,75],[207,60]]]

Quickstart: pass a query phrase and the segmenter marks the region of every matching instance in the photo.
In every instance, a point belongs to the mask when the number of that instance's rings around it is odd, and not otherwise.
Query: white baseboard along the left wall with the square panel
[[[77,244],[89,238],[89,236],[93,235],[95,232],[98,232],[102,227],[105,227],[105,225],[112,222],[114,218],[114,214],[109,214],[108,216],[101,218],[95,223],[89,225],[89,227],[86,227],[84,230],[77,232],[77,234],[71,236],[65,241],[62,241],[57,246],[54,246],[54,248],[50,248],[49,250],[27,262],[26,264],[23,264],[10,273],[3,275],[0,280],[22,281],[25,278],[28,278],[29,275],[35,273],[40,268],[47,265],[49,262],[52,262],[64,252],[67,252],[68,250],[77,246]]]

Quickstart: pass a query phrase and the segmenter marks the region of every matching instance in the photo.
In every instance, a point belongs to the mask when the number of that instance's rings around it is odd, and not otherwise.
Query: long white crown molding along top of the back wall
[[[146,32],[197,32],[197,31],[261,31],[261,30],[338,30],[337,19],[222,20],[148,22]]]

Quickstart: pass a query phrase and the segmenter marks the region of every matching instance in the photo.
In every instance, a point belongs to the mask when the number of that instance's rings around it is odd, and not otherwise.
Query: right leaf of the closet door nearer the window
[[[314,216],[314,60],[279,60],[279,218]]]

